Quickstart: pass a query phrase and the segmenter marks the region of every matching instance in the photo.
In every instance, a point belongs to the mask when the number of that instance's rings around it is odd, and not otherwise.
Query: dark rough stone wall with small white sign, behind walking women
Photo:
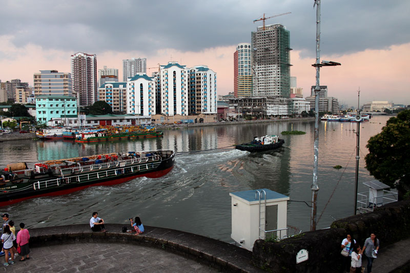
[[[383,246],[410,237],[410,201],[378,207],[374,212],[355,215],[332,223],[331,228],[306,232],[279,242],[257,240],[253,263],[272,272],[334,272],[341,268],[340,245],[346,234],[363,247],[364,240],[375,233]],[[309,259],[296,264],[301,249]]]

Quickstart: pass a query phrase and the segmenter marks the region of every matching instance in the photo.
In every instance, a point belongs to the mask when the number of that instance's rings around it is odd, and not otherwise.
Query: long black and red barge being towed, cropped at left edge
[[[0,206],[140,176],[158,178],[172,170],[174,160],[174,151],[156,150],[49,160],[31,169],[24,162],[11,163],[0,171]]]

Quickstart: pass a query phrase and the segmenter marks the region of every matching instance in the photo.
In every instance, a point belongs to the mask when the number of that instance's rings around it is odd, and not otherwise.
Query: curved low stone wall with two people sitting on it
[[[35,248],[44,246],[52,250],[53,246],[57,245],[68,247],[68,244],[78,244],[77,249],[80,250],[83,248],[82,245],[121,243],[169,251],[224,272],[262,272],[251,264],[251,251],[229,243],[179,230],[152,226],[145,226],[145,233],[135,236],[122,233],[122,226],[124,224],[106,224],[107,233],[92,232],[88,224],[31,228],[32,254],[30,255],[35,257]],[[138,257],[138,253],[135,253],[133,259]],[[86,262],[95,259],[92,256],[84,257]],[[126,265],[118,264],[116,271],[121,271],[120,267]]]

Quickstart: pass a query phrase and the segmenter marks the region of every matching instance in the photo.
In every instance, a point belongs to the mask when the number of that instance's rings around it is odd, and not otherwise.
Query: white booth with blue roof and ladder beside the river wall
[[[289,197],[261,188],[230,193],[232,209],[231,238],[252,251],[258,239],[288,236],[286,228]]]

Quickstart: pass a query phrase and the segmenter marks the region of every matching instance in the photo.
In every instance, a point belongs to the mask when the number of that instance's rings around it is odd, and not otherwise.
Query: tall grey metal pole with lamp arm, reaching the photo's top
[[[318,157],[319,157],[319,91],[320,91],[320,68],[322,66],[340,66],[339,62],[325,61],[320,63],[320,0],[315,0],[313,6],[316,5],[316,62],[313,67],[316,68],[316,86],[315,86],[315,132],[314,132],[314,144],[313,144],[313,184],[312,190],[312,212],[311,212],[311,231],[316,230],[316,214],[317,214],[317,192],[319,186],[317,185],[317,170],[318,170]]]

